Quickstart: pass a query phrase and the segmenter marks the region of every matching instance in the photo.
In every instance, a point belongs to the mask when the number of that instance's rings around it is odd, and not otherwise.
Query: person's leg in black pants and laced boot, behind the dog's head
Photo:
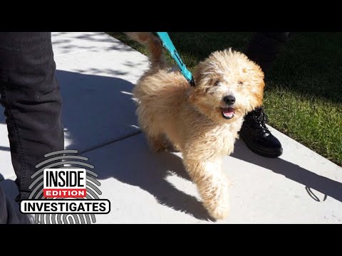
[[[246,55],[258,63],[267,75],[274,60],[279,55],[281,46],[289,40],[289,32],[255,33],[246,50]],[[266,127],[266,115],[262,107],[249,112],[244,118],[239,132],[254,153],[266,157],[278,157],[283,153],[279,139],[276,139]]]

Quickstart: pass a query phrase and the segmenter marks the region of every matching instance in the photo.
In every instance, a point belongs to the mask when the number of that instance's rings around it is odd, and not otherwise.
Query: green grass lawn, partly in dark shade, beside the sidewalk
[[[123,33],[108,33],[147,53]],[[170,33],[190,70],[214,50],[243,51],[251,36],[247,32]],[[266,78],[264,108],[272,127],[342,166],[342,33],[294,34]]]

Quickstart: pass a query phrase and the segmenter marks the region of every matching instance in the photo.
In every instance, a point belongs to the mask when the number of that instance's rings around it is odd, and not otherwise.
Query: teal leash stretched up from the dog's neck
[[[184,75],[187,82],[189,82],[191,86],[195,86],[194,78],[192,78],[191,72],[187,70],[187,66],[185,65],[185,63],[183,63],[182,59],[180,58],[180,55],[177,53],[177,50],[173,45],[169,34],[167,32],[157,32],[157,35],[162,41],[162,46],[164,46],[164,48],[170,52],[172,58],[180,67],[180,71],[182,72],[182,75]]]

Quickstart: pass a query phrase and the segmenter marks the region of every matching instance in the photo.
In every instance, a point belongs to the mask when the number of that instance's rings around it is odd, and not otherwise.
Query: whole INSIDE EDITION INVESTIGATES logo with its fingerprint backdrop
[[[94,166],[81,161],[61,161],[59,159],[78,159],[88,161],[83,156],[66,156],[67,153],[77,153],[76,150],[57,151],[47,154],[52,159],[38,164],[35,174],[31,176],[33,182],[28,200],[21,201],[20,210],[24,214],[34,214],[36,223],[42,224],[68,224],[68,223],[95,223],[96,214],[108,214],[110,201],[100,199],[100,182],[96,179],[98,174],[90,171]],[[63,154],[63,156],[56,156]],[[53,162],[53,164],[51,164]],[[48,164],[46,168],[44,164]],[[61,168],[51,168],[61,165]],[[81,165],[78,168],[68,165]]]

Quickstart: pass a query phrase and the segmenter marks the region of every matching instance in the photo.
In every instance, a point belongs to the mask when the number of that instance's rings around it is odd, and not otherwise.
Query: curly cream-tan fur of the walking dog
[[[150,69],[135,85],[133,95],[138,122],[151,148],[165,150],[170,143],[180,150],[204,207],[213,218],[226,218],[229,182],[222,159],[233,152],[244,115],[262,104],[264,73],[243,53],[221,50],[197,65],[196,86],[190,87],[179,70],[165,64],[157,37],[148,32],[128,36],[150,52]],[[227,95],[236,99],[229,106],[234,108],[232,119],[222,116]]]

